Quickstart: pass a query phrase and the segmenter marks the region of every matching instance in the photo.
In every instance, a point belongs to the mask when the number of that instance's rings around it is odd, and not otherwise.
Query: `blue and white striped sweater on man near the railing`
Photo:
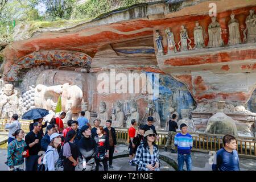
[[[174,138],[174,144],[179,154],[190,154],[193,146],[193,139],[188,133],[183,135],[178,133]]]

